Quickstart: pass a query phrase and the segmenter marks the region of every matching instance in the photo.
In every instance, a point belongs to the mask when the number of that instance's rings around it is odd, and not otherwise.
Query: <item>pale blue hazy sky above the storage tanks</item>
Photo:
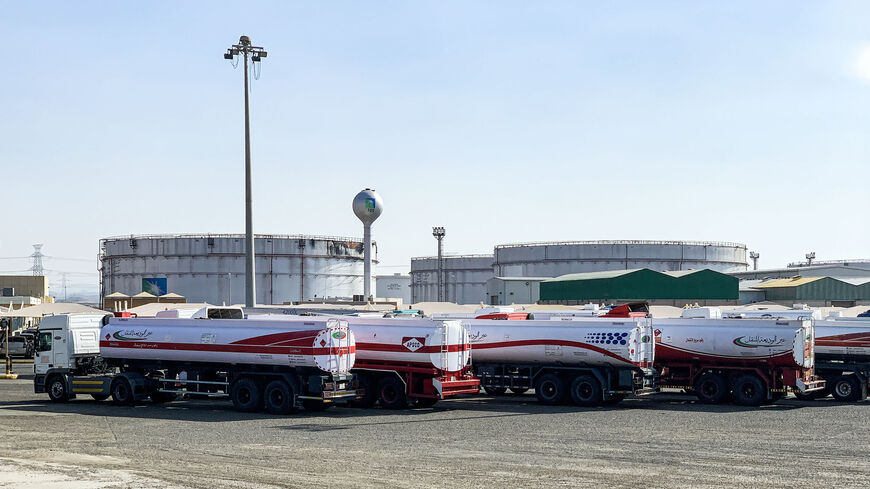
[[[866,2],[3,2],[0,272],[96,294],[100,238],[361,236],[377,273],[512,242],[870,258]],[[11,211],[11,212],[10,212]],[[75,259],[75,260],[73,260]]]

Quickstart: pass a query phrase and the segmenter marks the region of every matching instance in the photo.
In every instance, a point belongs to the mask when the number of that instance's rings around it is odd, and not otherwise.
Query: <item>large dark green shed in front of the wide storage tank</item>
[[[575,304],[646,300],[684,305],[737,303],[739,281],[714,270],[656,272],[647,268],[573,273],[541,282],[541,302]]]

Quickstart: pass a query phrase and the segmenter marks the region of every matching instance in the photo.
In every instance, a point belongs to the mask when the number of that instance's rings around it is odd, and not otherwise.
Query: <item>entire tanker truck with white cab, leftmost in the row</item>
[[[195,394],[229,397],[240,411],[318,411],[358,397],[355,349],[347,324],[326,318],[50,316],[39,325],[34,390],[55,402],[88,394],[129,405]]]

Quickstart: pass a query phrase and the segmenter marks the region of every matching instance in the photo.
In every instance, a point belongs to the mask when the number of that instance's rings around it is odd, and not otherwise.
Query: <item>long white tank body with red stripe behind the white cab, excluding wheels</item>
[[[105,358],[316,367],[347,372],[356,342],[347,323],[251,319],[112,318],[101,329]]]

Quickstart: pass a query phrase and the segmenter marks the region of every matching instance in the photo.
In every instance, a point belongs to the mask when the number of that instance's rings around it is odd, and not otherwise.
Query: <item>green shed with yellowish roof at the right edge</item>
[[[772,302],[805,303],[814,306],[851,307],[870,300],[866,283],[856,285],[831,277],[794,277],[770,280],[753,286]]]

